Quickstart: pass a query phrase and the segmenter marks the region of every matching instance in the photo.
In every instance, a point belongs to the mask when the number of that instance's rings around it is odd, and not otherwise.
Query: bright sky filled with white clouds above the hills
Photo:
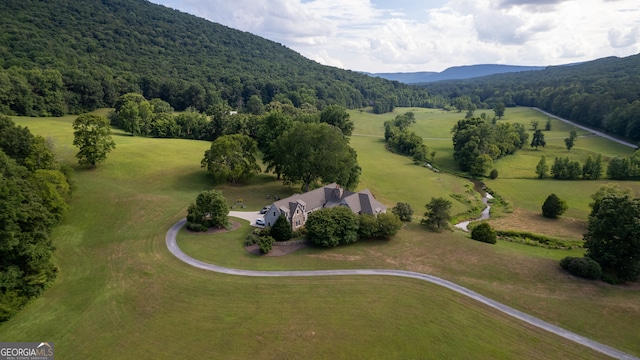
[[[151,0],[366,72],[640,53],[638,0]]]

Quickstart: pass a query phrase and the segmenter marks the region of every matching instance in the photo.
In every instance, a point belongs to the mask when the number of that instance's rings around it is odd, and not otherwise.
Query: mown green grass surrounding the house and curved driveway
[[[61,156],[75,162],[72,117],[16,120],[54,139]],[[355,132],[361,133],[360,123]],[[603,358],[416,280],[254,279],[189,267],[167,251],[164,236],[197,193],[213,186],[199,166],[209,144],[120,132],[115,141],[117,149],[105,164],[77,169],[72,209],[53,237],[59,277],[0,325],[2,341],[53,341],[63,359]],[[354,136],[352,145],[363,167],[360,187],[387,205],[408,201],[421,212],[431,196],[467,189],[464,180],[387,152],[376,137]],[[263,206],[267,195],[296,190],[267,175],[218,188],[231,203],[242,199],[247,209]],[[389,242],[257,257],[240,246],[248,231],[244,223],[215,237],[181,232],[179,241],[195,256],[244,268],[430,273],[640,355],[637,286],[566,275],[557,260],[578,256],[576,250],[489,246],[458,232],[435,234],[410,224]]]

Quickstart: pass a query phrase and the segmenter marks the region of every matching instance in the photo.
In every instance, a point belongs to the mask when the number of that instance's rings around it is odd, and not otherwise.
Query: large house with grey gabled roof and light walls
[[[274,202],[264,215],[265,225],[273,225],[280,214],[284,214],[295,231],[307,222],[312,212],[336,206],[346,206],[354,214],[377,215],[387,211],[387,207],[376,200],[368,189],[353,192],[333,183]]]

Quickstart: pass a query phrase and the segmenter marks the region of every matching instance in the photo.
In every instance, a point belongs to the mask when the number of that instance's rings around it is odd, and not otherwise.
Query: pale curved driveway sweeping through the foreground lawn
[[[432,275],[427,275],[427,274],[422,274],[422,273],[418,273],[418,272],[413,272],[413,271],[405,271],[405,270],[387,270],[387,269],[359,269],[359,270],[307,270],[307,271],[257,271],[257,270],[242,270],[242,269],[232,269],[232,268],[227,268],[227,267],[223,267],[223,266],[218,266],[218,265],[214,265],[214,264],[209,264],[209,263],[205,263],[202,262],[200,260],[196,260],[192,257],[190,257],[189,255],[185,254],[184,252],[182,252],[182,250],[180,250],[180,248],[178,247],[178,244],[176,243],[176,235],[178,234],[178,231],[184,226],[184,224],[187,222],[186,219],[182,219],[180,221],[178,221],[177,223],[175,223],[170,229],[169,231],[167,231],[167,235],[166,235],[166,242],[167,242],[167,248],[169,249],[169,251],[175,255],[178,259],[184,261],[185,263],[191,265],[191,266],[195,266],[197,268],[203,269],[203,270],[208,270],[208,271],[215,271],[218,273],[222,273],[222,274],[229,274],[229,275],[240,275],[240,276],[257,276],[257,277],[291,277],[291,276],[338,276],[338,275],[348,275],[348,276],[352,276],[352,275],[386,275],[386,276],[400,276],[400,277],[407,277],[407,278],[413,278],[413,279],[418,279],[418,280],[423,280],[423,281],[428,281],[430,283],[436,284],[436,285],[440,285],[440,286],[444,286],[447,289],[453,290],[457,293],[460,293],[462,295],[468,296],[472,299],[475,299],[485,305],[488,305],[494,309],[497,309],[499,311],[502,311],[503,313],[507,314],[507,315],[511,315],[517,319],[520,319],[528,324],[531,324],[533,326],[537,326],[541,329],[544,329],[546,331],[552,332],[556,335],[562,336],[565,339],[571,340],[573,342],[576,342],[578,344],[582,344],[584,346],[587,346],[595,351],[601,352],[605,355],[617,358],[617,359],[633,359],[633,360],[640,360],[637,357],[631,356],[627,353],[624,353],[622,351],[616,350],[612,347],[609,347],[607,345],[603,345],[599,342],[590,340],[585,338],[584,336],[580,336],[576,333],[573,333],[571,331],[565,330],[563,328],[560,328],[558,326],[549,324],[548,322],[542,321],[536,317],[533,317],[531,315],[527,315],[521,311],[518,311],[512,307],[506,306],[502,303],[499,303],[495,300],[491,300],[488,297],[482,296],[480,294],[478,294],[475,291],[471,291],[465,287],[462,287],[460,285],[454,284],[450,281],[441,279],[439,277],[436,276],[432,276]]]

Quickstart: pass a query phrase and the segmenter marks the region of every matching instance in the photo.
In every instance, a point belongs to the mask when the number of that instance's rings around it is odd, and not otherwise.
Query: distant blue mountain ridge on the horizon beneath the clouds
[[[504,74],[522,71],[542,70],[544,66],[517,66],[517,65],[497,65],[480,64],[454,66],[442,72],[420,71],[407,73],[366,73],[369,76],[381,77],[387,80],[399,81],[405,84],[419,84],[441,80],[461,80],[472,79],[481,76]]]

